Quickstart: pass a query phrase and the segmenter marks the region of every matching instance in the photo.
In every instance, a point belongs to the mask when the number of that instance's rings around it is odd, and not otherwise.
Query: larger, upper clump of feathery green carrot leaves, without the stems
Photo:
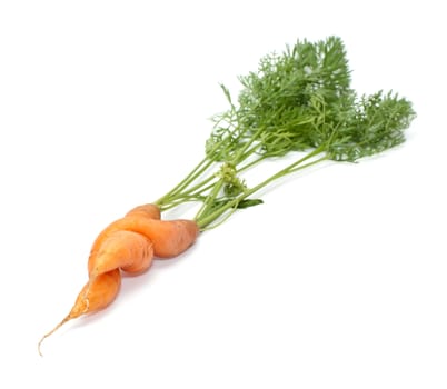
[[[336,37],[316,43],[297,41],[281,56],[265,56],[258,71],[239,80],[244,88],[238,106],[221,86],[230,109],[215,117],[207,142],[207,154],[212,150],[219,161],[232,160],[246,142],[258,142],[256,152],[268,157],[315,147],[315,101],[332,107],[350,92],[345,47]],[[326,121],[324,116],[328,112],[331,111],[318,112],[318,120]],[[220,146],[218,150],[212,148],[216,143]]]

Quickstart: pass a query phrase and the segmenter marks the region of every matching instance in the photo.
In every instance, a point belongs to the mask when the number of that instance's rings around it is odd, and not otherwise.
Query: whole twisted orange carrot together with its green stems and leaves
[[[416,117],[411,103],[396,93],[357,94],[338,37],[297,41],[260,63],[239,78],[237,99],[221,86],[230,104],[212,118],[199,163],[155,205],[131,209],[98,236],[88,260],[89,282],[72,309],[76,313],[61,325],[107,306],[118,292],[121,270],[138,273],[152,258],[178,256],[199,231],[262,203],[252,196],[289,174],[328,161],[356,162],[403,143],[404,130]],[[241,177],[261,162],[296,152],[290,163],[257,182],[248,184]],[[185,203],[200,205],[193,220],[160,220],[160,211]],[[110,290],[109,278],[118,280]]]

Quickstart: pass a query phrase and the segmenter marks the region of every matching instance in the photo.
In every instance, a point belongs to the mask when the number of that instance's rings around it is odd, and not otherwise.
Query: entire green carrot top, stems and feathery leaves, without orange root
[[[251,198],[285,176],[322,161],[355,162],[405,141],[415,118],[411,103],[391,92],[358,97],[350,88],[342,41],[297,41],[281,54],[264,57],[258,70],[240,77],[229,108],[213,117],[203,159],[156,201],[167,210],[198,203],[201,230],[227,220],[237,209],[261,203]],[[285,169],[249,186],[242,178],[260,162],[291,152]]]

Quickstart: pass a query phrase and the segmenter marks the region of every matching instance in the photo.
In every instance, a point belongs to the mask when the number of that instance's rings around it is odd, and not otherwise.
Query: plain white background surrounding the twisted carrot
[[[441,4],[1,1],[0,387],[446,388]],[[414,102],[407,142],[270,188],[41,358],[97,233],[201,158],[219,82],[330,34],[360,93]]]

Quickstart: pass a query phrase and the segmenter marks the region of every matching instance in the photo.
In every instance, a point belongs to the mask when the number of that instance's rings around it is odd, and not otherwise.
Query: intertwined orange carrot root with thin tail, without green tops
[[[149,269],[153,256],[173,257],[185,251],[199,232],[191,220],[160,220],[155,205],[131,209],[121,219],[109,225],[95,240],[89,260],[89,281],[79,292],[70,313],[42,341],[67,321],[93,313],[111,303],[121,283],[120,270],[141,273]]]

